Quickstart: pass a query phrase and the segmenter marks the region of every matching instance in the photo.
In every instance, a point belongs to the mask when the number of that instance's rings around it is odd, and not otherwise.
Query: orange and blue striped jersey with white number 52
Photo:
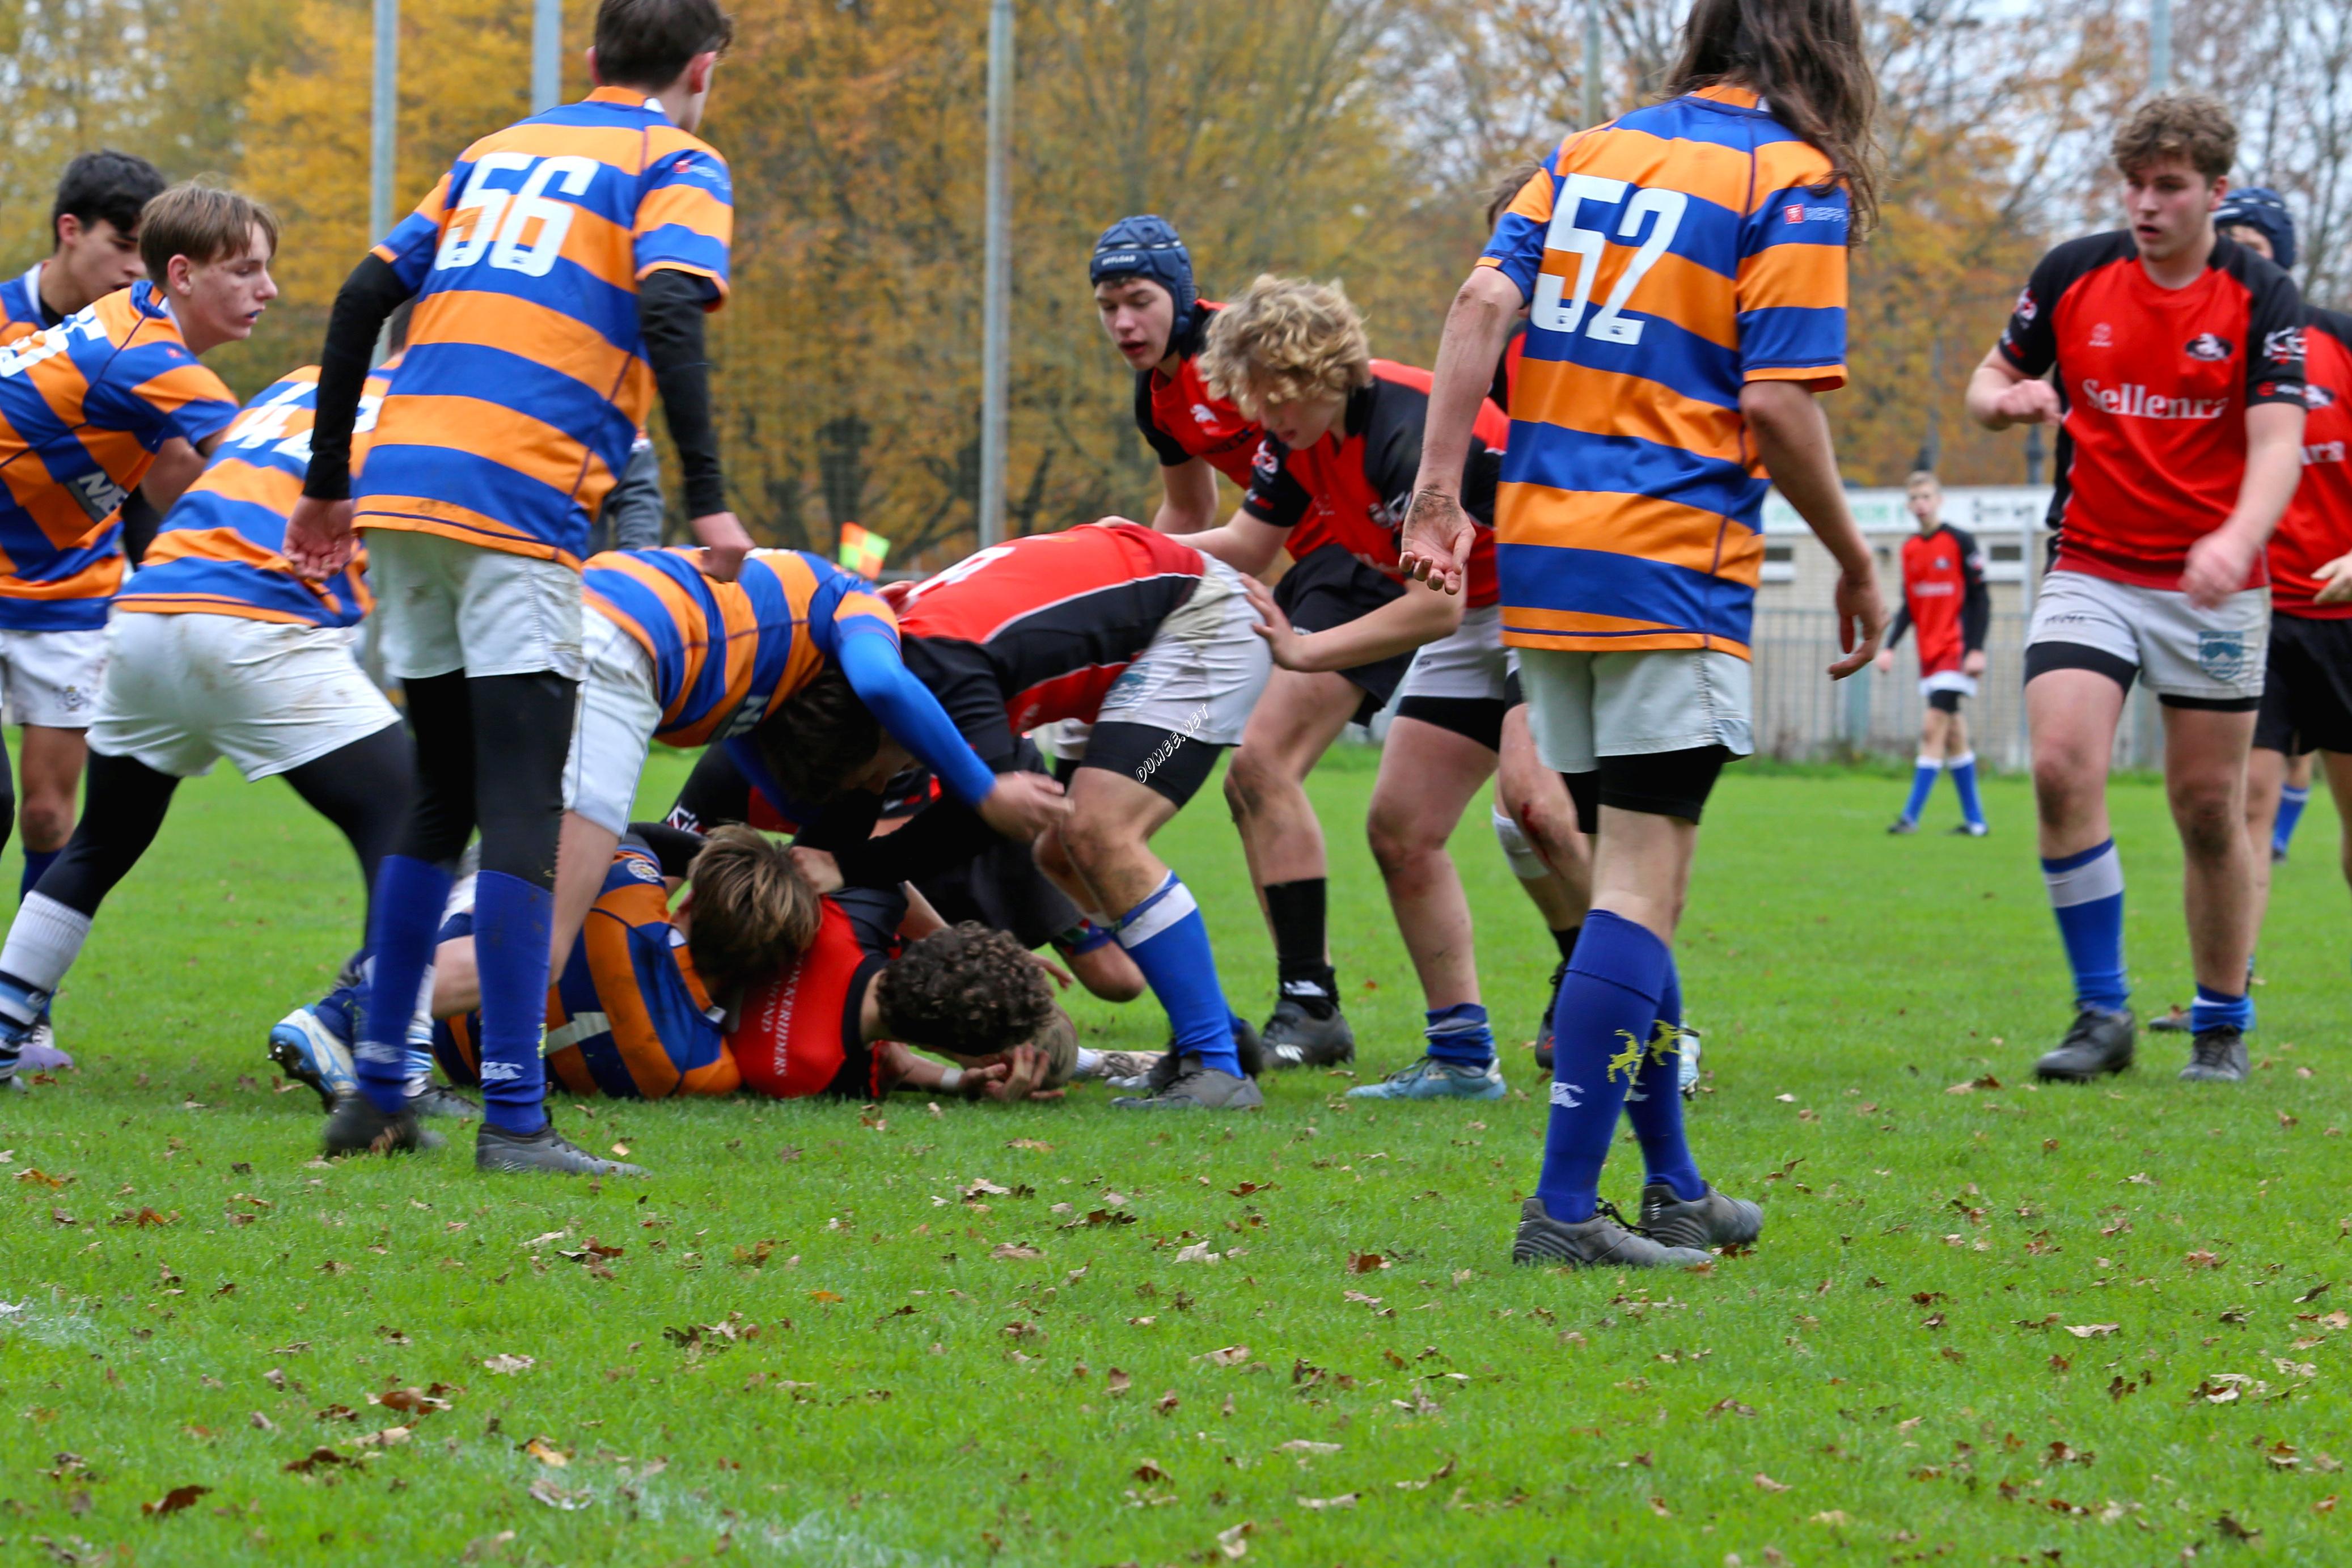
[[[1529,299],[1496,498],[1503,642],[1748,658],[1748,381],[1846,376],[1851,205],[1740,87],[1566,136],[1479,266]]]

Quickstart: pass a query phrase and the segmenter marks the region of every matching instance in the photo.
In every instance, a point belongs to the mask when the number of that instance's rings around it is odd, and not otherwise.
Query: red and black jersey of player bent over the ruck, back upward
[[[1009,766],[1023,731],[1091,722],[1207,569],[1192,545],[1134,522],[1030,534],[917,585],[898,611],[901,656],[971,750]]]

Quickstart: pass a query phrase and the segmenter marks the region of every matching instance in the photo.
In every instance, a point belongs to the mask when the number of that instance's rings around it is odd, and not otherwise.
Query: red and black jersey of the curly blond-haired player
[[[1258,449],[1242,510],[1289,529],[1291,559],[1341,545],[1362,562],[1395,571],[1397,529],[1421,475],[1421,430],[1430,414],[1430,371],[1371,362],[1371,386],[1348,395],[1341,423],[1312,447],[1291,451],[1272,435]],[[1470,548],[1470,607],[1496,602],[1494,482],[1510,416],[1482,402],[1463,465],[1463,510],[1482,527]]]

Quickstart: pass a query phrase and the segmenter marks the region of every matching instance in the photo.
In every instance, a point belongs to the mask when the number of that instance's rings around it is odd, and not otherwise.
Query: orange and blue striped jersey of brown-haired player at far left
[[[106,625],[122,496],[165,442],[202,444],[235,416],[148,282],[0,350],[0,628]]]

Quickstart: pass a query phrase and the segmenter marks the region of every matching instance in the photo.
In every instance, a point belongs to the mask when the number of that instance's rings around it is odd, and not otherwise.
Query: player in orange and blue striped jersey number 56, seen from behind
[[[703,355],[703,313],[727,294],[731,186],[694,136],[729,38],[713,0],[602,0],[595,92],[466,148],[336,296],[287,555],[325,576],[353,524],[372,531],[419,788],[376,879],[362,1093],[327,1119],[334,1154],[437,1143],[409,1110],[405,1034],[452,863],[480,825],[475,1166],[635,1173],[548,1121],[539,1039],[583,675],[581,552],[656,388],[703,567],[734,576],[750,550],[724,501]],[[353,487],[367,357],[407,299],[409,350]]]

